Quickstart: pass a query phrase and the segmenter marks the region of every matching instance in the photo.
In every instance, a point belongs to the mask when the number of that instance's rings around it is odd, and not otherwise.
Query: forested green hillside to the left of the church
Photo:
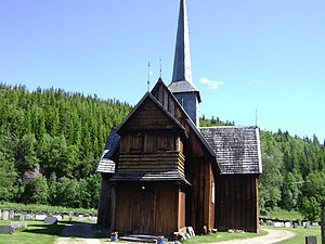
[[[0,201],[96,207],[99,158],[130,110],[61,89],[0,85]]]

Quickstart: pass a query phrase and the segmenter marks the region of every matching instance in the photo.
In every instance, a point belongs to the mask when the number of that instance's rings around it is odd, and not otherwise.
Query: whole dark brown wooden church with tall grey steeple
[[[259,230],[259,128],[199,128],[199,102],[181,0],[171,84],[159,78],[108,137],[99,223],[125,234]]]

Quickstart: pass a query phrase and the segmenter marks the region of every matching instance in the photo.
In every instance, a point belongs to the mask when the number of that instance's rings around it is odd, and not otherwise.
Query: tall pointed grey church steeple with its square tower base
[[[198,126],[200,95],[192,80],[186,0],[180,0],[173,73],[168,88],[184,107],[193,123]]]

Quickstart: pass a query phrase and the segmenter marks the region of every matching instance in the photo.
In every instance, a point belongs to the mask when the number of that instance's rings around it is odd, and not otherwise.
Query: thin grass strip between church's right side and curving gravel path
[[[223,242],[229,240],[242,240],[242,239],[251,239],[265,235],[266,232],[261,231],[260,233],[227,233],[227,232],[218,232],[207,235],[196,235],[195,237],[184,240],[184,244],[200,244],[200,243],[216,243]]]

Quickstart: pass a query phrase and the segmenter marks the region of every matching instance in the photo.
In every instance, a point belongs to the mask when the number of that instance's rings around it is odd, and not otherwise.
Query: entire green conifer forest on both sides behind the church
[[[107,136],[132,106],[62,89],[0,84],[0,202],[96,208],[95,172]],[[202,126],[234,125],[218,117]],[[261,131],[260,207],[317,219],[325,204],[325,146],[314,136]]]

